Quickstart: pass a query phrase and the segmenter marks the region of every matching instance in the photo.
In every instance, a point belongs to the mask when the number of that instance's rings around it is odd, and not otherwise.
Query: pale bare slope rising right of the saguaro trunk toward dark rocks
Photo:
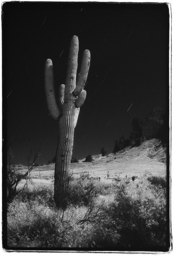
[[[166,175],[166,149],[162,147],[157,139],[147,140],[139,147],[127,147],[116,154],[110,154],[108,157],[101,155],[93,156],[92,163],[71,164],[71,172],[79,176],[80,172],[89,172],[92,177],[101,177],[102,180],[114,178],[116,175],[120,178],[143,175]]]

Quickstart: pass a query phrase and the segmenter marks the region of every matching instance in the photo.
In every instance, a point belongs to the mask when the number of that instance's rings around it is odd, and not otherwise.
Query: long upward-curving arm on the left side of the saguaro
[[[49,113],[54,119],[57,120],[61,115],[61,109],[58,108],[55,99],[53,65],[52,60],[50,59],[46,60],[45,63],[45,92]]]

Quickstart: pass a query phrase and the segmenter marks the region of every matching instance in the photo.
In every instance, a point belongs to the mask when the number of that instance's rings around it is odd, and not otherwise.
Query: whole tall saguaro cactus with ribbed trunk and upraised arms
[[[77,123],[79,108],[86,98],[86,91],[83,88],[90,65],[90,52],[88,50],[83,52],[81,69],[76,82],[78,51],[78,37],[73,36],[70,45],[65,85],[62,84],[59,89],[60,106],[57,105],[55,99],[52,61],[48,59],[45,64],[47,104],[50,115],[59,121],[60,128],[54,174],[54,199],[59,207],[63,204],[61,198],[65,193],[69,179],[74,128]]]

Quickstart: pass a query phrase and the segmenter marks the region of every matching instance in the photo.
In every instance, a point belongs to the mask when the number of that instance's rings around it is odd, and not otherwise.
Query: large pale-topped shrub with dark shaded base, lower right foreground
[[[146,179],[117,185],[115,202],[107,209],[107,227],[119,234],[117,246],[159,250],[166,246],[166,197]]]

